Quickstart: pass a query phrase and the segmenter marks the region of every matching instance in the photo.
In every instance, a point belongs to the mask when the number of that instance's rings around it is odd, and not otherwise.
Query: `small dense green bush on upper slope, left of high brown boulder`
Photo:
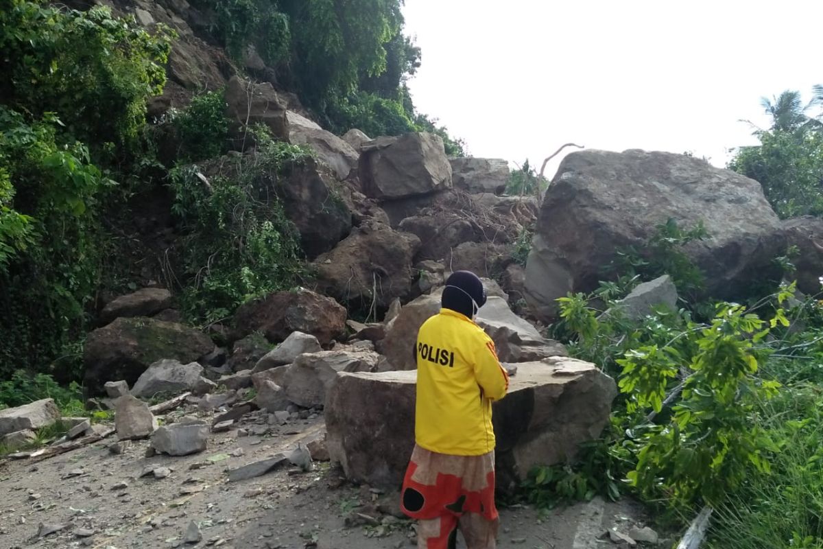
[[[172,111],[170,119],[180,142],[181,160],[200,161],[226,151],[229,120],[222,91],[195,95],[186,109]]]

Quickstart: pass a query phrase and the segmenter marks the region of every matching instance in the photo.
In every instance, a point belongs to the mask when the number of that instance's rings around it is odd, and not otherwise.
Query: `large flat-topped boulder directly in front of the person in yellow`
[[[617,394],[596,365],[565,357],[518,365],[495,402],[498,486],[507,490],[537,465],[566,463],[597,438]],[[369,395],[369,398],[363,398]],[[414,448],[416,372],[340,374],[326,399],[327,446],[353,482],[397,487]]]

